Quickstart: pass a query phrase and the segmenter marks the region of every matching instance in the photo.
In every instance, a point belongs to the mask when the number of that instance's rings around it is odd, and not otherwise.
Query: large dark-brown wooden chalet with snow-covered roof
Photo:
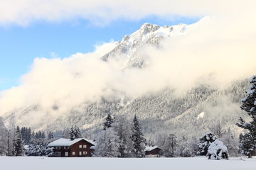
[[[91,147],[95,142],[78,138],[74,140],[61,138],[51,142],[48,147],[53,147],[53,155],[50,157],[92,157]]]

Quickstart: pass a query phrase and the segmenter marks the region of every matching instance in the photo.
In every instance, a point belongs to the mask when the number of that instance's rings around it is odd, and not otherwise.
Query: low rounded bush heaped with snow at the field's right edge
[[[207,152],[208,159],[228,159],[228,149],[220,140],[212,142]]]

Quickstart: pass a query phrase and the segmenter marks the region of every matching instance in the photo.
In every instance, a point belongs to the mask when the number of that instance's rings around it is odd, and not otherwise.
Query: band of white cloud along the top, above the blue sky
[[[253,0],[14,0],[0,1],[0,23],[27,26],[33,21],[72,21],[83,18],[104,25],[124,18],[138,20],[146,16],[212,16],[254,11]]]

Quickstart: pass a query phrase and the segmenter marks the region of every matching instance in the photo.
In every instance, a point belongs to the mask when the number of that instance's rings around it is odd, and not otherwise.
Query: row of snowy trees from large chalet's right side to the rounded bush
[[[238,156],[239,144],[230,130],[223,130],[220,124],[211,130],[213,132],[206,132],[202,137],[192,139],[186,137],[178,139],[175,134],[164,132],[152,137],[151,140],[146,140],[136,115],[133,121],[129,121],[124,115],[116,115],[112,118],[109,113],[102,131],[97,135],[97,145],[93,155],[94,157],[145,157],[145,147],[157,145],[161,149],[161,157],[207,155],[209,159],[228,159],[229,155]]]

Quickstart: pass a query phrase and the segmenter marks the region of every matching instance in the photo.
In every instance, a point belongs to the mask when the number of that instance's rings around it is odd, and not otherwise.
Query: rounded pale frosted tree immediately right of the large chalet
[[[112,128],[102,130],[96,138],[94,157],[119,157],[119,136]]]

